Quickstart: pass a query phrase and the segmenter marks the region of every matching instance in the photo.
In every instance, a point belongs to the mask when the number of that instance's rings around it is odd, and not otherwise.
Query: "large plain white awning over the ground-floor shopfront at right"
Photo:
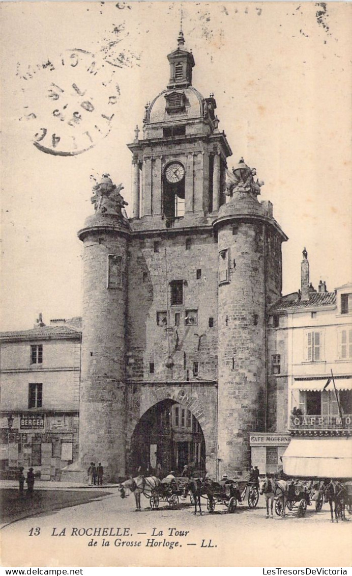
[[[292,438],[282,463],[288,476],[352,478],[352,438]]]

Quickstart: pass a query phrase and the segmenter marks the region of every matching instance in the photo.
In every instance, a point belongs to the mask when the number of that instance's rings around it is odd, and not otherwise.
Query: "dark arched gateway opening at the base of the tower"
[[[162,400],[141,416],[133,431],[129,471],[181,475],[188,465],[194,475],[205,472],[205,440],[196,416],[174,400]]]

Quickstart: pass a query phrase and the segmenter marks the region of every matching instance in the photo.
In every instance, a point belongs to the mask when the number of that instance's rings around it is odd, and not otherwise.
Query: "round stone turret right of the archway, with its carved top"
[[[242,184],[241,184],[242,185]],[[219,248],[219,475],[250,465],[249,433],[266,429],[266,309],[281,295],[271,203],[235,191],[213,223]],[[254,463],[255,464],[255,463]]]

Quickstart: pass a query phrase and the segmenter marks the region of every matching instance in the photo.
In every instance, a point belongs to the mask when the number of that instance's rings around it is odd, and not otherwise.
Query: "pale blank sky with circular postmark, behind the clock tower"
[[[289,237],[283,293],[300,287],[304,247],[315,287],[352,280],[351,3],[2,2],[2,330],[30,328],[39,312],[45,323],[81,314],[91,176],[123,183],[129,213],[126,144],[166,88],[181,8],[193,85],[215,94],[228,167],[243,157],[257,168],[259,199]],[[94,111],[70,116],[88,96]]]

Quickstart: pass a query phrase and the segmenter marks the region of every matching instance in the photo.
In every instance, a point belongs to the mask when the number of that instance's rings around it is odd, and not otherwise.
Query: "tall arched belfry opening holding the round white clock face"
[[[171,162],[164,170],[163,214],[169,219],[185,215],[185,168],[181,162]]]

